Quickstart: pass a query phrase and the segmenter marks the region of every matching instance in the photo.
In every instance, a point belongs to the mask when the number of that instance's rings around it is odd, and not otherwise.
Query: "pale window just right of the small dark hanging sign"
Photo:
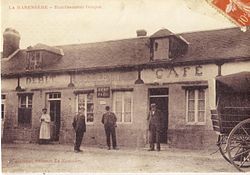
[[[114,91],[113,92],[113,111],[117,116],[118,123],[132,122],[133,99],[132,92]]]

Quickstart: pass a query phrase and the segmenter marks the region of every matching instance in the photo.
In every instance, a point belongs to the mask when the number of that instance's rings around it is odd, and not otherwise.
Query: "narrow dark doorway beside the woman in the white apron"
[[[61,93],[49,93],[48,105],[51,120],[51,140],[59,141],[61,126]]]

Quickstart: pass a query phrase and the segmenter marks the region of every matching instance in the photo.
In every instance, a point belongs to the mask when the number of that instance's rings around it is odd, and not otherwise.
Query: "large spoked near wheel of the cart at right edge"
[[[228,158],[239,170],[250,167],[250,119],[238,123],[227,141]]]

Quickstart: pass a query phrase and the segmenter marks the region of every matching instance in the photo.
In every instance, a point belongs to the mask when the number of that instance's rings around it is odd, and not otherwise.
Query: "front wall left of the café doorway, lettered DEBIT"
[[[15,91],[17,79],[11,81],[13,86],[6,90],[6,126],[4,129],[5,141],[22,140],[37,142],[39,135],[39,117],[41,109],[46,106],[46,94],[51,92],[61,93],[61,128],[59,143],[73,143],[74,130],[72,128],[73,117],[76,114],[75,91],[94,90],[94,123],[87,125],[84,142],[88,145],[106,145],[102,114],[105,106],[112,107],[112,93],[109,98],[97,98],[97,87],[108,86],[110,89],[132,88],[133,89],[133,122],[118,123],[117,142],[120,146],[142,146],[146,143],[146,116],[147,116],[147,88],[144,85],[134,85],[137,72],[107,72],[102,74],[78,74],[73,76],[73,88],[68,88],[70,75],[58,76],[33,76],[23,77],[20,86],[25,92],[33,93],[32,101],[32,124],[30,128],[18,125],[18,96]],[[66,81],[65,81],[66,80]],[[11,99],[11,100],[10,100]],[[8,134],[7,134],[8,133]]]

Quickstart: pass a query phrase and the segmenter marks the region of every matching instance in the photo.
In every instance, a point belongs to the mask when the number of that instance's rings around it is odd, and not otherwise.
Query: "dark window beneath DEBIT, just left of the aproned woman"
[[[32,117],[32,94],[19,95],[18,100],[18,124],[30,126]]]

